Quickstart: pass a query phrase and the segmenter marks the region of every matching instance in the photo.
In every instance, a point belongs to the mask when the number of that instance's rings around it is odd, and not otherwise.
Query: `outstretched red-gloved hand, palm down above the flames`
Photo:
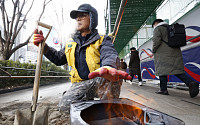
[[[112,82],[119,81],[120,79],[131,80],[131,76],[127,72],[106,66],[101,67],[88,75],[89,79],[95,77],[102,77]]]

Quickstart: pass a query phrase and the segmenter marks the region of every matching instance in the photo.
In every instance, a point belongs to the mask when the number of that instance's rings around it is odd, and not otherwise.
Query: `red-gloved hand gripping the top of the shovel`
[[[39,46],[39,43],[42,43],[44,41],[44,36],[42,31],[40,30],[39,34],[38,34],[38,29],[36,29],[34,31],[34,35],[33,35],[33,44],[36,46]]]

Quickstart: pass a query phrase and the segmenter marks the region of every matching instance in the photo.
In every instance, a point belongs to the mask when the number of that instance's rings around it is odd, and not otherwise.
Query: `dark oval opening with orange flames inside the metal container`
[[[90,125],[144,125],[144,111],[126,104],[94,104],[81,111],[81,118]]]

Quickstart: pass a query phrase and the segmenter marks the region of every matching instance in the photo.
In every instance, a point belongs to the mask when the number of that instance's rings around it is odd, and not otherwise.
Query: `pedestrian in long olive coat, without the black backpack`
[[[175,75],[189,87],[190,97],[193,98],[199,93],[199,83],[185,74],[181,49],[169,47],[163,42],[163,40],[168,42],[167,25],[162,19],[156,19],[152,23],[155,75],[160,78],[160,90],[156,93],[169,95],[167,75]]]

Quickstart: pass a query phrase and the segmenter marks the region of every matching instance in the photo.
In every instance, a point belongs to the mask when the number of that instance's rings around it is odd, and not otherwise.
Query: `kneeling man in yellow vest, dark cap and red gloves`
[[[72,10],[70,17],[77,22],[77,32],[56,51],[45,44],[44,55],[57,66],[67,64],[72,86],[59,102],[61,112],[69,112],[71,103],[84,100],[119,98],[122,79],[131,79],[128,73],[117,70],[119,57],[111,37],[100,35],[96,29],[98,13],[90,4]],[[43,41],[43,33],[35,30],[34,44]]]

